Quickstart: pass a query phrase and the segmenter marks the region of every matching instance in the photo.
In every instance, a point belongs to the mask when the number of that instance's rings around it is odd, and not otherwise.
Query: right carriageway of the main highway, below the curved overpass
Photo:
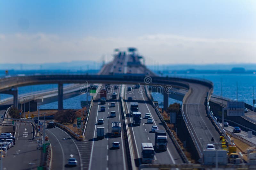
[[[142,90],[142,89],[141,89]],[[134,91],[124,94],[124,102],[126,107],[128,108],[130,114],[130,106],[131,102],[138,102],[139,103],[139,111],[141,112],[141,125],[140,126],[133,126],[132,125],[132,117],[128,119],[128,126],[130,128],[130,132],[132,140],[133,140],[133,149],[135,153],[135,162],[136,166],[141,164],[141,143],[149,142],[155,145],[155,133],[151,132],[151,127],[153,125],[157,125],[159,130],[165,130],[164,126],[162,125],[161,121],[159,120],[158,116],[156,115],[155,109],[150,104],[145,92],[139,93],[138,89],[134,89]],[[132,97],[132,101],[128,101],[128,97]],[[144,119],[145,114],[150,113],[153,119],[153,124],[147,124],[147,119]],[[182,159],[180,158],[179,153],[177,152],[175,146],[172,143],[172,140],[168,137],[168,149],[164,152],[156,151],[155,156],[155,164],[177,164],[183,163]]]

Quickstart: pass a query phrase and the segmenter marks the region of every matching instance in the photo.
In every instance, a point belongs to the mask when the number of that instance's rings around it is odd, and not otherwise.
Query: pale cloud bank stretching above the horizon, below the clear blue
[[[53,34],[0,34],[0,63],[99,61],[114,48],[137,47],[146,63],[256,63],[255,41],[172,34],[67,38]],[[109,57],[109,59],[111,59]]]

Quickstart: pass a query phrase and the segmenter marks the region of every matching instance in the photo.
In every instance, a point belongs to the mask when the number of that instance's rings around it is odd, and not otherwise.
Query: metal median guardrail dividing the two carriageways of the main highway
[[[124,100],[123,100],[123,97],[120,96],[120,100],[121,100],[121,103],[122,103],[122,108],[123,108],[123,113],[124,113],[124,123],[125,123],[125,129],[126,129],[126,140],[127,140],[127,144],[128,144],[128,148],[127,148],[127,153],[128,153],[128,156],[127,156],[127,159],[129,160],[130,158],[130,163],[131,163],[131,168],[133,170],[137,169],[136,166],[135,166],[135,161],[134,161],[134,157],[133,157],[133,149],[132,149],[132,139],[131,139],[131,136],[130,136],[130,130],[128,128],[128,124],[127,124],[127,120],[126,120],[126,115],[125,113],[126,112],[126,107],[125,107],[125,104],[124,104]]]

